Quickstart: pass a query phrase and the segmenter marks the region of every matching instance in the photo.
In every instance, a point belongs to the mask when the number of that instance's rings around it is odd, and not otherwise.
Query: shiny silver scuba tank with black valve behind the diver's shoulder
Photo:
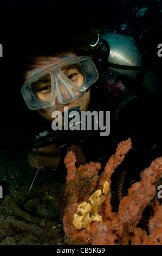
[[[126,81],[127,88],[142,99],[147,98],[161,107],[162,87],[153,73],[153,70],[160,70],[161,67],[142,66],[134,39],[131,36],[105,32],[97,42],[98,44],[91,45],[91,55],[103,83],[118,77],[121,81]],[[105,74],[102,74],[103,70]]]

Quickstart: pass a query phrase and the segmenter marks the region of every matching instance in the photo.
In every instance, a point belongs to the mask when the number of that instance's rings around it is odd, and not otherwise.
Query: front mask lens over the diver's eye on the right
[[[82,86],[85,82],[85,76],[78,63],[64,65],[61,67],[61,71],[76,86]]]

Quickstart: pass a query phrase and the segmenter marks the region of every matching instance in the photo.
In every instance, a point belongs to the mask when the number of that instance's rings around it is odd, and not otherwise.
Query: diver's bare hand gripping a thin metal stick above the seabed
[[[55,144],[40,149],[31,149],[28,155],[30,167],[38,170],[43,168],[56,169],[60,159],[61,150]]]

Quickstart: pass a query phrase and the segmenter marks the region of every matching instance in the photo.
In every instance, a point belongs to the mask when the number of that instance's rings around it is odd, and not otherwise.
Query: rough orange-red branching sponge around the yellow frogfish
[[[110,157],[105,169],[99,176],[100,163],[90,162],[75,167],[76,156],[68,151],[64,160],[67,168],[66,198],[63,225],[69,245],[161,245],[162,244],[162,204],[155,197],[155,183],[162,175],[162,157],[152,161],[150,167],[141,173],[141,180],[128,189],[128,195],[120,200],[118,212],[111,206],[111,176],[116,167],[124,160],[131,149],[131,140],[121,142],[116,153]],[[94,191],[102,190],[105,182],[109,183],[106,199],[99,208],[100,221],[94,221],[90,227],[76,229],[73,224],[74,215],[79,204],[86,202]],[[151,216],[147,230],[139,227],[142,213],[151,206]],[[89,208],[89,218],[93,213]]]

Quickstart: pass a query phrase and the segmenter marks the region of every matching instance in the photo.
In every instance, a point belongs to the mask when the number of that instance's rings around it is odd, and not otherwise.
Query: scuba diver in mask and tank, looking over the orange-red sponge
[[[53,10],[44,13],[53,17]],[[51,168],[59,173],[67,148],[76,144],[87,162],[99,161],[104,167],[117,145],[130,137],[133,148],[121,168],[128,170],[132,179],[161,153],[160,129],[152,108],[161,104],[161,85],[151,70],[142,69],[133,38],[87,25],[81,32],[67,14],[62,13],[62,26],[53,28],[53,18],[46,23],[39,13],[43,22],[36,18],[33,32],[28,29],[21,91],[28,108],[47,121],[46,136],[37,136],[28,163],[38,170]],[[69,22],[66,26],[65,21]],[[62,118],[68,114],[69,119],[72,111],[79,115],[83,111],[109,111],[109,135],[100,136],[93,130],[52,131],[55,111],[62,113]]]

